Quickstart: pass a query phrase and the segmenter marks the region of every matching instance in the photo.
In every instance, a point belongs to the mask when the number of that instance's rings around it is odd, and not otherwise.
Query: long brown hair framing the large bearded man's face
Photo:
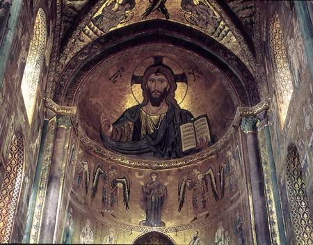
[[[149,95],[147,90],[147,80],[151,74],[163,74],[168,79],[168,84],[170,84],[170,89],[168,90],[168,95],[166,95],[166,100],[171,102],[175,107],[179,107],[177,101],[175,100],[175,90],[177,84],[175,82],[175,75],[167,65],[152,65],[145,70],[143,74],[143,83],[141,84],[141,89],[143,90],[143,104],[147,104],[149,101]]]

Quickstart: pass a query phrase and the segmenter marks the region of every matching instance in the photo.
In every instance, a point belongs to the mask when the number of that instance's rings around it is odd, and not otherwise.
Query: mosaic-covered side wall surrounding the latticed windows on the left
[[[38,83],[38,95],[35,101],[33,121],[30,126],[22,97],[21,83],[38,8],[42,8],[46,15],[46,49]],[[54,6],[51,5],[51,1],[49,1],[49,4],[47,1],[23,1],[20,13],[11,13],[12,16],[19,15],[19,18],[16,29],[14,30],[13,42],[10,46],[10,56],[6,64],[6,70],[1,83],[2,88],[0,90],[0,155],[5,165],[13,134],[17,131],[22,132],[24,141],[24,177],[22,191],[19,194],[19,205],[15,214],[12,242],[22,242],[26,226],[26,214],[35,175],[44,120],[42,96],[49,69],[49,56],[51,52],[49,46],[51,45],[54,32],[54,13],[55,10]]]

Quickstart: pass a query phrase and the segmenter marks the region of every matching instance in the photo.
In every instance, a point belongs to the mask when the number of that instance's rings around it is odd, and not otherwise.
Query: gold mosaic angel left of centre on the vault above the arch
[[[93,18],[93,24],[108,33],[111,28],[128,22],[134,16],[132,10],[135,5],[135,0],[110,0],[102,8],[102,13]]]

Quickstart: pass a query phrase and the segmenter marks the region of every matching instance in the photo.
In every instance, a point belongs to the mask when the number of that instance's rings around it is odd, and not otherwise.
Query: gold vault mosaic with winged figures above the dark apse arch
[[[106,1],[97,9],[95,15],[90,17],[90,21],[79,33],[78,38],[68,40],[61,56],[63,65],[68,63],[83,47],[110,31],[136,22],[142,22],[143,19],[169,18],[172,22],[191,26],[211,36],[236,54],[252,71],[250,50],[246,47],[247,45],[243,45],[243,38],[238,34],[239,31],[236,30],[236,27],[233,24],[226,23],[225,19],[229,18],[223,16],[225,13],[220,12],[220,9],[217,10],[217,3],[205,0],[174,0],[164,3],[164,7],[164,9],[158,9],[158,6],[153,6],[149,1]],[[238,11],[240,11],[240,8],[238,8]],[[246,12],[243,11],[243,13]],[[234,35],[234,31],[236,35]]]

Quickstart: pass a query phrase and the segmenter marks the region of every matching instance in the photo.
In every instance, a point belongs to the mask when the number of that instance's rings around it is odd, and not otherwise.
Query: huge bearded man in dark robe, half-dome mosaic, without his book
[[[177,77],[177,76],[176,76]],[[142,77],[143,102],[127,109],[113,124],[102,113],[100,136],[104,146],[131,155],[152,153],[154,157],[175,159],[202,150],[209,137],[196,141],[196,147],[182,150],[179,125],[193,120],[190,111],[175,100],[175,74],[167,65],[148,67]]]

